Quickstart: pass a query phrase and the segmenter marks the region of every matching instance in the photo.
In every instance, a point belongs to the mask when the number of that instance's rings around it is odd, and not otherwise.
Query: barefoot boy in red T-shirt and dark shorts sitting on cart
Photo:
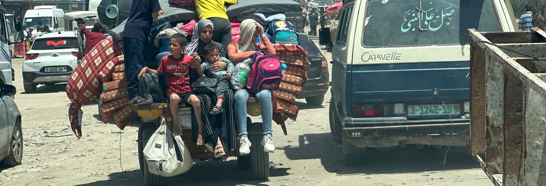
[[[167,95],[169,97],[170,110],[173,114],[173,131],[175,134],[182,134],[182,128],[180,127],[180,120],[178,118],[178,107],[180,103],[189,103],[195,110],[195,119],[199,126],[199,135],[197,137],[197,145],[203,145],[203,121],[201,121],[201,101],[199,98],[192,94],[192,88],[189,83],[188,72],[189,69],[195,69],[200,66],[201,60],[195,59],[191,56],[184,55],[182,52],[186,49],[186,36],[182,34],[173,34],[169,42],[169,52],[171,55],[165,56],[161,59],[161,64],[157,70],[148,69],[144,67],[140,70],[138,79],[143,77],[146,72],[152,72],[156,75],[161,75],[165,72],[165,79],[167,79]]]

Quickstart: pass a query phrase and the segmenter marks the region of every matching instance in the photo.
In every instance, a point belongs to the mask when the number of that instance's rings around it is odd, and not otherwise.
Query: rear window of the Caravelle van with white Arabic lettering
[[[490,0],[371,0],[366,7],[366,47],[465,45],[468,28],[500,31]]]

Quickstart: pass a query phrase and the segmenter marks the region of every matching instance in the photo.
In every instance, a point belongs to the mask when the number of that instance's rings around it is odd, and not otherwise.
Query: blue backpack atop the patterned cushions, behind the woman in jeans
[[[271,42],[274,44],[296,44],[299,45],[296,27],[290,21],[274,21],[269,25]]]

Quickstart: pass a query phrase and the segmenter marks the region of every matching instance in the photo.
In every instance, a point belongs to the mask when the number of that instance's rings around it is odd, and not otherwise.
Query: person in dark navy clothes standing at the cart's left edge
[[[154,21],[163,14],[158,0],[133,0],[129,18],[123,30],[125,76],[129,104],[148,104],[150,100],[138,96],[138,73],[144,66],[144,40],[150,35]],[[103,35],[104,36],[104,35]]]

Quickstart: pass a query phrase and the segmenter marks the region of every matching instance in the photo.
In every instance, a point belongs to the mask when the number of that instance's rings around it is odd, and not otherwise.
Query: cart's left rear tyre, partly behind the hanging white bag
[[[148,142],[148,139],[156,131],[156,123],[144,122],[140,125],[138,130],[138,159],[140,163],[140,171],[144,173],[144,184],[147,186],[157,185],[157,175],[150,173],[148,170],[148,164],[144,158],[144,147]]]

